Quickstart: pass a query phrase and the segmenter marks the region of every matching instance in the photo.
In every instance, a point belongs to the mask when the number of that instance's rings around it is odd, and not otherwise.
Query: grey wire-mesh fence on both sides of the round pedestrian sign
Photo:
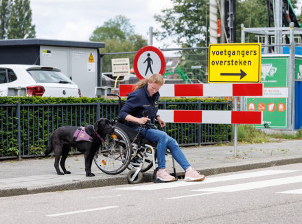
[[[208,47],[187,47],[161,49],[166,60],[165,83],[207,83]],[[112,76],[111,60],[129,58],[130,65],[137,52],[101,54],[102,86],[118,88],[119,84],[134,84],[138,81],[135,74]]]

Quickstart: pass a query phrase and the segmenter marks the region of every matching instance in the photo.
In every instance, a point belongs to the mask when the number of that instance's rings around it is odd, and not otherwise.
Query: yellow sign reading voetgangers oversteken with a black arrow
[[[209,45],[209,82],[261,82],[261,43]]]

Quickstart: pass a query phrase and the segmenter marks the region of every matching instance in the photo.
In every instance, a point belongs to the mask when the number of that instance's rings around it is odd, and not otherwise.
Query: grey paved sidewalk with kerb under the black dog
[[[209,176],[222,172],[302,163],[302,140],[239,144],[237,157],[233,157],[234,146],[190,147],[183,148],[183,152],[196,170]],[[71,171],[71,175],[59,176],[56,174],[53,158],[0,161],[0,197],[128,183],[128,170],[119,175],[106,175],[94,162],[92,172],[95,177],[86,177],[83,155],[68,157],[66,168]],[[167,168],[172,168],[170,155],[167,156]],[[176,170],[183,171],[178,164]],[[143,181],[152,181],[152,169],[144,175]]]

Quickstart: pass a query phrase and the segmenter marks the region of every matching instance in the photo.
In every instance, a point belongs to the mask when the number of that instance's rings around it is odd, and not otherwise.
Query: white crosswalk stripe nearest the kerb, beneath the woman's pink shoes
[[[206,177],[205,181],[176,181],[176,182],[168,182],[168,183],[151,183],[148,185],[141,185],[141,186],[133,186],[133,187],[126,187],[126,188],[117,188],[116,190],[161,190],[167,188],[178,188],[184,186],[194,186],[198,184],[205,184],[205,183],[215,183],[220,181],[231,181],[236,179],[246,179],[246,178],[253,178],[253,177],[263,177],[268,175],[279,175],[288,172],[297,172],[299,170],[264,170],[264,171],[257,171],[257,172],[246,172],[237,175],[227,175],[223,177]]]

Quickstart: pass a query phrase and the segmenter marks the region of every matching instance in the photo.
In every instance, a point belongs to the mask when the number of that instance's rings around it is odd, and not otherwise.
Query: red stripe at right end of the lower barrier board
[[[232,124],[261,124],[262,111],[232,111]]]

